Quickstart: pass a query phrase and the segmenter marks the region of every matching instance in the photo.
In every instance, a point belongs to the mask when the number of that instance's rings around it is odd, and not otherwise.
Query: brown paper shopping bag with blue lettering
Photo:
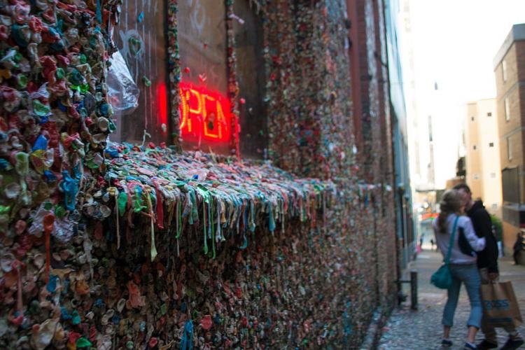
[[[517,327],[523,323],[512,283],[487,283],[481,286],[483,323],[493,328]]]

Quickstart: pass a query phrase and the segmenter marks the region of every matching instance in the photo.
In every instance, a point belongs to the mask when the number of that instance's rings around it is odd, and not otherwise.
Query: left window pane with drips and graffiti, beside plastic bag
[[[168,89],[165,0],[127,0],[113,39],[140,90],[139,106],[132,113],[114,118],[115,141],[141,143],[167,141]]]

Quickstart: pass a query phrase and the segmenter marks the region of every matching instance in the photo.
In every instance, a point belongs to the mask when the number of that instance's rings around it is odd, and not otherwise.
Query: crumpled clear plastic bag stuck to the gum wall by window
[[[134,82],[130,69],[119,51],[111,56],[108,71],[108,97],[113,111],[126,115],[139,106],[140,90]]]

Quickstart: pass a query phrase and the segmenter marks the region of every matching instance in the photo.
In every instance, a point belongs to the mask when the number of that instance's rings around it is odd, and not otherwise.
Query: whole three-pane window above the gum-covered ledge
[[[129,0],[113,38],[139,90],[134,111],[115,111],[113,141],[141,144],[168,141],[169,88],[167,0]],[[257,6],[253,6],[255,3]],[[267,153],[264,101],[265,59],[262,13],[255,0],[235,1],[235,15],[226,18],[225,1],[179,1],[177,31],[181,66],[179,130],[185,150],[231,154],[237,126],[232,125],[228,96],[228,21],[233,22],[239,83],[241,151],[248,157]],[[172,48],[174,49],[174,47]],[[233,73],[233,72],[232,72]],[[116,80],[118,81],[118,80]],[[124,115],[127,113],[126,115]],[[144,139],[145,138],[145,139]]]

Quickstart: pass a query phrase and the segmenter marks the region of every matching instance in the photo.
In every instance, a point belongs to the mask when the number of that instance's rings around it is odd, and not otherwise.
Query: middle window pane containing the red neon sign
[[[177,14],[181,55],[183,148],[229,153],[232,140],[224,1],[182,0]]]

